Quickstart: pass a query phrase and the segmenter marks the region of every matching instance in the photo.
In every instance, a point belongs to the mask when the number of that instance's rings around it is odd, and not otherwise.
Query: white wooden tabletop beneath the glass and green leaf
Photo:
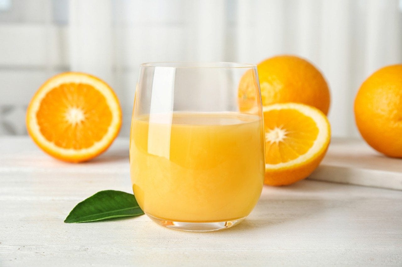
[[[84,198],[131,192],[128,140],[66,164],[28,138],[0,138],[0,266],[402,265],[402,192],[305,180],[265,187],[231,229],[188,233],[146,216],[65,224]]]

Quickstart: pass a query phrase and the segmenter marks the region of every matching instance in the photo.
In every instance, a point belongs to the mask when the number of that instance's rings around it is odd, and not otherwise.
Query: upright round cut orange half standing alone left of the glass
[[[104,81],[67,72],[47,80],[27,109],[27,130],[51,156],[67,162],[90,160],[105,151],[121,127],[121,108]]]

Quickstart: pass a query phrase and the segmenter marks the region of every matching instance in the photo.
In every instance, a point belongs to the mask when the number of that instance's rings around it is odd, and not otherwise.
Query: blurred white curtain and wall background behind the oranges
[[[322,71],[333,136],[357,137],[360,84],[402,62],[402,0],[0,0],[0,135],[27,134],[27,105],[56,73],[107,81],[128,136],[140,63],[258,63],[277,54]]]

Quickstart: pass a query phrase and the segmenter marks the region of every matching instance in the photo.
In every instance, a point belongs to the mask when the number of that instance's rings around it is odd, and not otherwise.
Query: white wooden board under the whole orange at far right
[[[335,138],[309,179],[402,190],[402,160],[376,152],[363,140]]]

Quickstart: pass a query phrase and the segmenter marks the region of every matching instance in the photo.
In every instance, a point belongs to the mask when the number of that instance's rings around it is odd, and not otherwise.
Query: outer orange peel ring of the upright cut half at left
[[[65,73],[60,73],[57,74],[55,76],[53,76],[51,79],[57,79],[57,77],[61,77],[63,75],[68,75],[68,74],[81,74],[79,72],[65,72]],[[105,81],[102,81],[101,79],[99,79],[98,77],[95,77],[93,75],[89,75],[86,74],[88,77],[90,77],[91,79],[96,79],[102,83],[105,83]],[[59,153],[58,151],[55,150],[51,150],[49,148],[47,148],[46,146],[43,146],[41,144],[41,142],[39,141],[39,139],[37,138],[36,134],[32,131],[32,129],[29,127],[30,125],[30,117],[29,117],[29,113],[31,112],[32,109],[32,105],[34,101],[38,101],[37,97],[39,95],[39,92],[48,84],[50,83],[50,80],[48,79],[45,83],[43,83],[43,85],[41,85],[41,87],[39,87],[39,89],[36,91],[35,95],[32,97],[31,102],[28,105],[27,108],[27,116],[26,116],[26,125],[27,125],[27,131],[29,136],[31,136],[32,140],[35,142],[35,144],[37,144],[37,146],[39,146],[39,148],[41,150],[43,150],[45,153],[49,154],[50,156],[53,156],[54,158],[58,159],[58,160],[62,160],[64,162],[71,162],[71,163],[79,163],[79,162],[85,162],[88,160],[91,160],[93,158],[95,158],[96,156],[102,154],[103,152],[105,152],[113,143],[113,140],[115,140],[115,138],[117,137],[117,135],[119,134],[119,131],[121,129],[121,122],[122,122],[122,112],[121,112],[121,107],[119,106],[119,110],[120,110],[120,114],[119,114],[119,124],[117,125],[117,131],[116,133],[113,135],[113,138],[111,138],[109,144],[107,144],[106,146],[104,146],[102,149],[97,150],[97,151],[93,151],[93,152],[88,152],[85,155],[82,156],[69,156],[69,155],[64,155],[62,153]],[[105,83],[106,84],[106,83]],[[109,85],[107,85],[110,89],[111,87]],[[117,98],[117,95],[114,93],[114,91],[111,89],[111,93],[113,94],[113,97],[115,98],[115,101],[117,101],[117,103],[119,103],[119,100]]]

